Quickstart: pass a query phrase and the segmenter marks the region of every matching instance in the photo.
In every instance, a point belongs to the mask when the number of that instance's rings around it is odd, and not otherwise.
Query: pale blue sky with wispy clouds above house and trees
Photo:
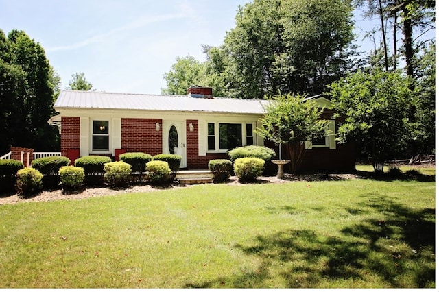
[[[20,29],[40,42],[62,89],[84,72],[97,90],[159,94],[176,57],[204,60],[200,45],[221,45],[238,6],[248,2],[0,0],[0,29]],[[372,25],[357,20],[358,33]],[[371,49],[366,42],[363,51]]]

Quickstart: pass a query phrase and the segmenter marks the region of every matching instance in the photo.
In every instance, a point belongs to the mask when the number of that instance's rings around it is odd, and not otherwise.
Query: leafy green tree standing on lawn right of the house
[[[407,145],[409,82],[401,71],[359,71],[331,84],[335,109],[346,117],[337,139],[355,141],[377,173]]]

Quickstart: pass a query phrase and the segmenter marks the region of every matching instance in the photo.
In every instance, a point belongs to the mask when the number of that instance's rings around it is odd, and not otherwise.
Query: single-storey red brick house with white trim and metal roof
[[[322,119],[331,132],[331,101],[310,97],[324,107]],[[307,102],[306,99],[304,102]],[[54,104],[59,112],[49,123],[61,133],[61,155],[74,161],[80,156],[104,155],[114,160],[124,152],[179,154],[181,169],[207,169],[209,160],[228,159],[227,151],[243,145],[278,146],[254,133],[268,101],[212,96],[211,88],[191,86],[187,96],[105,93],[64,90]],[[330,135],[305,142],[303,171],[353,171],[355,149]],[[287,151],[282,159],[287,159]]]

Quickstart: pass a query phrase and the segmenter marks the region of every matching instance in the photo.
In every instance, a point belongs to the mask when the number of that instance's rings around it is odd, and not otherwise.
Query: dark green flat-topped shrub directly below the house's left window
[[[83,156],[75,160],[75,167],[84,169],[86,184],[103,184],[104,165],[108,162],[111,162],[111,158],[107,156]]]

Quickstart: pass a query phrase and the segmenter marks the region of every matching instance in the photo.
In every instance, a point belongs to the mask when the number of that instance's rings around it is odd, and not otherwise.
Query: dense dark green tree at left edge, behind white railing
[[[25,32],[0,30],[0,151],[10,146],[58,149],[58,129],[47,123],[55,114],[54,71],[43,47]]]

